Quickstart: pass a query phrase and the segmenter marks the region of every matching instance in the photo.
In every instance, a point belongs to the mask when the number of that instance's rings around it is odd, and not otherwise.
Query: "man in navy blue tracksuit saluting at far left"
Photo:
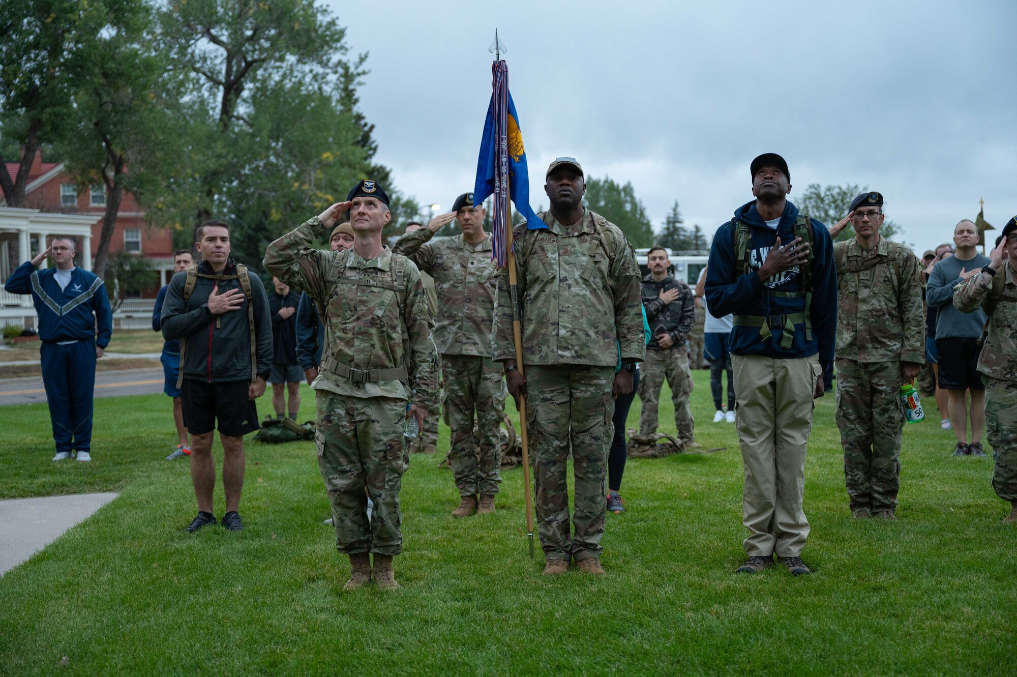
[[[4,289],[31,294],[39,315],[43,385],[50,406],[57,455],[92,460],[92,399],[96,359],[110,343],[113,312],[103,281],[74,265],[74,241],[57,236],[31,261],[18,266]],[[56,267],[37,270],[53,254]]]

